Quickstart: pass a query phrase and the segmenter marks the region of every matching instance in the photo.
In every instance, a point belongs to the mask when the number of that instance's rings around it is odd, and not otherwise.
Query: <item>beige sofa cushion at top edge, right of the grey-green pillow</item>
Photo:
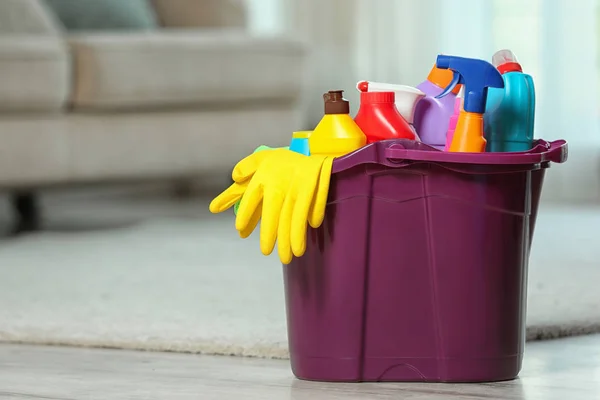
[[[152,0],[165,28],[246,28],[244,0]]]

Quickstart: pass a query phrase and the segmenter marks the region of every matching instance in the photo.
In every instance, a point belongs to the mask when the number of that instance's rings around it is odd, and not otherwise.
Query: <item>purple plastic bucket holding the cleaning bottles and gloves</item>
[[[294,374],[515,378],[544,172],[566,157],[562,140],[481,154],[392,140],[337,159],[325,221],[283,268]]]

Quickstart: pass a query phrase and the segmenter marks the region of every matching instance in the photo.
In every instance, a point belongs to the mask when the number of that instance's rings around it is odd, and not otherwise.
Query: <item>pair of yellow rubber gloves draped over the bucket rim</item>
[[[288,264],[292,252],[304,254],[307,221],[313,227],[323,222],[332,163],[332,157],[307,157],[284,149],[252,154],[236,165],[236,183],[213,200],[211,211],[222,212],[243,195],[236,218],[240,236],[252,233],[262,215],[262,253],[271,254],[278,241],[281,261]]]

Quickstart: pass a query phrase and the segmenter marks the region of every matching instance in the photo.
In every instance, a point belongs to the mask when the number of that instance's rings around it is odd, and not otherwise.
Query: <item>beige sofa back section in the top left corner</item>
[[[40,0],[0,0],[0,35],[53,35],[61,32]]]

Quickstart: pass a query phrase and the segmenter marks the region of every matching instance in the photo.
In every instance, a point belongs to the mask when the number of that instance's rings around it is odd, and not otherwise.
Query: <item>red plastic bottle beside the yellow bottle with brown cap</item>
[[[354,122],[367,136],[367,144],[387,139],[417,139],[395,102],[394,92],[360,93],[360,108]]]

